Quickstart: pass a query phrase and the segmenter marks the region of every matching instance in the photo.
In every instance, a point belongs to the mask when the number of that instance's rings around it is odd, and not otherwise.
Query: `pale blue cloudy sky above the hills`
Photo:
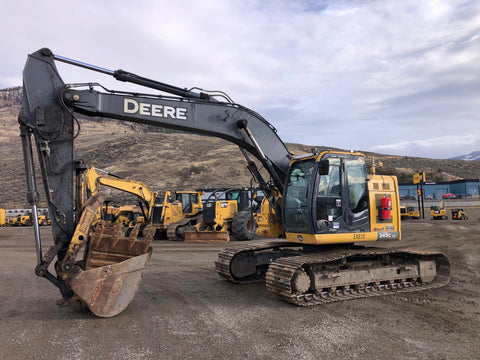
[[[449,158],[480,150],[480,2],[0,3],[0,88],[28,53],[222,90],[285,142]],[[8,15],[7,15],[8,14]],[[106,75],[58,66],[65,82]]]

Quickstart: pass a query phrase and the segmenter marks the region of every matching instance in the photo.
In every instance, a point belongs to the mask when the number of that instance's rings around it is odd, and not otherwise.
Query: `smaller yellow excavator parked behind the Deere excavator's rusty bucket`
[[[185,230],[192,229],[196,225],[203,209],[202,192],[177,191],[172,194],[166,191],[163,197],[159,197],[157,192],[150,191],[141,182],[124,179],[110,172],[90,167],[85,173],[87,196],[98,193],[100,186],[135,195],[139,199],[139,208],[143,215],[142,223],[150,224],[155,229],[156,239],[183,240]],[[135,225],[137,221],[133,218],[133,214],[132,205],[123,206],[115,222],[125,226]]]

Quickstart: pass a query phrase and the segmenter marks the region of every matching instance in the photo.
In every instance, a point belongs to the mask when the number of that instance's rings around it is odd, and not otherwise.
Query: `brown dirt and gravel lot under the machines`
[[[469,216],[404,222],[403,241],[387,244],[445,252],[442,289],[299,308],[221,280],[221,245],[155,242],[140,291],[110,319],[57,306],[33,273],[32,229],[0,228],[0,359],[478,358],[480,210]]]

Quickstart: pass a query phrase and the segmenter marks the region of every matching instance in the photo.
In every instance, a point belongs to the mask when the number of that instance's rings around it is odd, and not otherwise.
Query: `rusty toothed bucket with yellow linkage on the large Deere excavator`
[[[92,198],[87,201],[74,235],[75,240],[79,229],[90,229],[82,237],[84,259],[72,267],[67,283],[93,314],[112,317],[125,310],[138,291],[152,254],[150,243],[155,229],[146,226],[143,239],[138,239],[140,225],[128,235],[122,224],[101,221],[91,228],[91,216],[86,214],[91,213],[103,197]],[[78,247],[71,246],[74,252],[78,252]]]

